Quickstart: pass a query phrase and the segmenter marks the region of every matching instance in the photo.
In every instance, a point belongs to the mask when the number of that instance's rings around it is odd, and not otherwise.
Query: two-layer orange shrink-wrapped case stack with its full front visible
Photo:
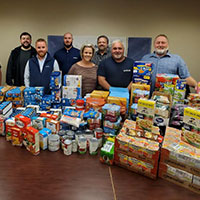
[[[159,140],[162,136],[156,127],[152,132],[138,134],[136,124],[132,120],[126,120],[119,135],[115,140],[115,164],[126,169],[150,177],[157,178],[159,159]]]

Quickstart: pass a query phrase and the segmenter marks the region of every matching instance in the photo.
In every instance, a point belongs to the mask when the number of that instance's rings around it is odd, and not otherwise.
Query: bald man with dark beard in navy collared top
[[[74,48],[73,45],[73,36],[71,33],[67,32],[64,34],[64,47],[58,50],[54,58],[58,61],[62,75],[68,73],[71,66],[81,60],[80,50]]]

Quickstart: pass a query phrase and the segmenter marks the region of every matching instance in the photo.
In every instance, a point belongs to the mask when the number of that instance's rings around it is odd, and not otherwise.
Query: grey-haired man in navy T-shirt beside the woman
[[[100,62],[97,71],[99,84],[106,90],[111,86],[130,90],[134,61],[124,56],[124,45],[120,40],[113,41],[111,55]]]

